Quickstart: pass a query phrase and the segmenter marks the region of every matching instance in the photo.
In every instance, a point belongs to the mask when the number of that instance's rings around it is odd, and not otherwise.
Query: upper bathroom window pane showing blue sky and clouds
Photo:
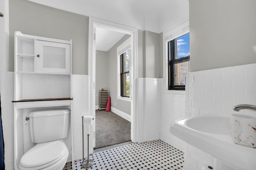
[[[177,55],[175,58],[187,57],[189,55],[189,33],[178,37],[176,41]]]

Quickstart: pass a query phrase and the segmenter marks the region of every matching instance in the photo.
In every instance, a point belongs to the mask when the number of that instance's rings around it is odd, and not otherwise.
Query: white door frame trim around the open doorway
[[[130,58],[130,122],[131,122],[131,140],[132,142],[137,142],[137,112],[136,112],[136,102],[137,101],[137,87],[136,79],[137,74],[137,40],[138,40],[138,30],[126,26],[121,26],[119,24],[113,24],[111,22],[106,22],[98,19],[89,19],[89,43],[88,43],[88,73],[89,73],[89,113],[92,117],[96,117],[95,112],[95,99],[96,99],[96,28],[103,28],[110,31],[119,32],[122,34],[128,34],[131,37],[131,58]],[[117,76],[117,75],[113,75]],[[93,147],[96,146],[95,140],[95,121],[93,123]],[[92,148],[90,148],[92,150]]]

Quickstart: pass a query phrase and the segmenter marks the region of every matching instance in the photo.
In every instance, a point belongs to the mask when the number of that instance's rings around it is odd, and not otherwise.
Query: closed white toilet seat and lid
[[[68,148],[64,142],[57,140],[36,144],[28,150],[19,162],[20,170],[38,170],[47,168],[68,157]]]

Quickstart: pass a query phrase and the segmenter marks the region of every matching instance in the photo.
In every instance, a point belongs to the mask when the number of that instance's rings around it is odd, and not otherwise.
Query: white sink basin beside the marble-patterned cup
[[[230,133],[230,116],[199,115],[175,121],[170,132],[239,170],[254,170],[256,149],[235,144]]]

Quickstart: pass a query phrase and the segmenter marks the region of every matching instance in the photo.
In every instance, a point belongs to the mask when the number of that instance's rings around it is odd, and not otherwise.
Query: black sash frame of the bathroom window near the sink
[[[184,34],[185,35],[185,34]],[[185,85],[174,85],[174,65],[190,60],[190,55],[176,59],[177,38],[168,42],[168,90],[185,90]]]

